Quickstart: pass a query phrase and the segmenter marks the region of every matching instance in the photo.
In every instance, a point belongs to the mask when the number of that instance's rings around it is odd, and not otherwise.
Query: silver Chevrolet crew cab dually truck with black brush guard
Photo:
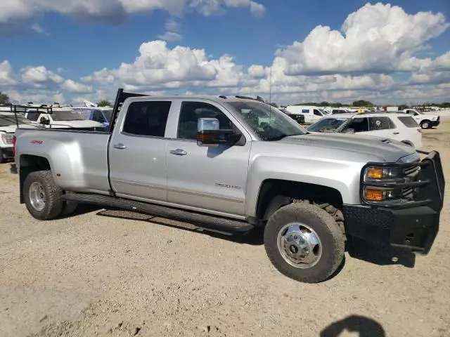
[[[111,123],[108,132],[16,131],[20,201],[34,218],[86,203],[220,232],[261,227],[271,263],[310,283],[338,270],[346,240],[427,254],[438,232],[437,152],[420,161],[395,140],[311,134],[266,103],[231,96],[120,89]]]

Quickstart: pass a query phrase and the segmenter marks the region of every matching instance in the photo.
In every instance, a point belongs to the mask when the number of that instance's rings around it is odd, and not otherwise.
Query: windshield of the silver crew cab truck
[[[232,102],[229,104],[262,140],[280,140],[288,136],[308,133],[292,118],[266,103]]]

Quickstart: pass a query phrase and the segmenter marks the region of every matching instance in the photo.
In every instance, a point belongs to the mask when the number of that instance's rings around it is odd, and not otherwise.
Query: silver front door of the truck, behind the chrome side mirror
[[[181,103],[176,139],[169,140],[167,146],[167,200],[244,216],[250,137],[242,146],[200,147],[196,141],[199,118],[217,118],[220,128],[239,130],[222,109],[207,101]]]

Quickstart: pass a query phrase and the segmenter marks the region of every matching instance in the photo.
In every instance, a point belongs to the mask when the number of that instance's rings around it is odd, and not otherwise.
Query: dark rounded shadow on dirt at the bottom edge
[[[386,336],[383,326],[374,319],[365,316],[352,315],[326,326],[326,328],[321,331],[320,337],[338,337],[341,336],[344,331],[349,331],[352,333],[352,336],[359,337]],[[358,333],[358,335],[354,335],[354,333]]]

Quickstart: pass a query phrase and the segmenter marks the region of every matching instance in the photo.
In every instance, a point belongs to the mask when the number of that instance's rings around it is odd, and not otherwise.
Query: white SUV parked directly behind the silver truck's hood
[[[422,131],[409,114],[338,114],[317,121],[307,130],[392,138],[416,149],[422,147]]]

